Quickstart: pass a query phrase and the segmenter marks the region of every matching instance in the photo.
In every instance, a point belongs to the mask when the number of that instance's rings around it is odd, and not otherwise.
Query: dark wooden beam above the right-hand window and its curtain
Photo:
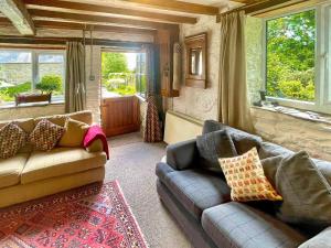
[[[264,0],[217,14],[217,22],[221,22],[221,18],[223,15],[234,11],[245,11],[246,14],[256,14],[259,12],[271,11],[279,8],[287,8],[306,1],[307,0]]]

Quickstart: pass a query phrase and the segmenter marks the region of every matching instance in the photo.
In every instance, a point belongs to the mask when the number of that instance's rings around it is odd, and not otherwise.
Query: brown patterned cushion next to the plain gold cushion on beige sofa
[[[60,138],[64,133],[64,128],[43,119],[34,128],[30,134],[30,142],[35,150],[50,151],[52,150]]]

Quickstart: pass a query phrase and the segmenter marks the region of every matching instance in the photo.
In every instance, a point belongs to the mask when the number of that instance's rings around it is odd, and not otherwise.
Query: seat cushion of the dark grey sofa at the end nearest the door
[[[217,173],[201,169],[175,171],[159,163],[157,175],[197,220],[204,209],[229,201],[231,190]]]

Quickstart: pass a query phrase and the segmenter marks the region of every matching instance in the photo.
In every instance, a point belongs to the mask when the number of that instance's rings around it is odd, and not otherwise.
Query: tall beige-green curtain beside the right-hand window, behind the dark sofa
[[[247,96],[245,13],[221,18],[220,121],[254,131]]]

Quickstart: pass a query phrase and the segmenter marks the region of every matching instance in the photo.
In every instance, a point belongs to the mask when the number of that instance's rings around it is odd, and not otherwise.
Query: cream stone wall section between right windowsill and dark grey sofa
[[[331,123],[299,119],[281,112],[253,108],[256,132],[267,141],[311,157],[331,161]]]

